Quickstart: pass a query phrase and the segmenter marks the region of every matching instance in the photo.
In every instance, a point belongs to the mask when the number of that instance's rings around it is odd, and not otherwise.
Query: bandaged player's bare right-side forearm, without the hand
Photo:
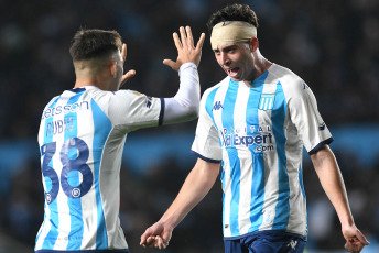
[[[321,185],[333,204],[342,226],[354,224],[343,176],[328,146],[312,155]]]

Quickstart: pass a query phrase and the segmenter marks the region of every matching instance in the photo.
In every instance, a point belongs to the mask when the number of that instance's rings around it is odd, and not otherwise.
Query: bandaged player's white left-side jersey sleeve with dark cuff
[[[192,153],[204,161],[210,163],[220,163],[223,152],[219,144],[218,132],[213,119],[205,108],[207,97],[206,94],[207,92],[204,94],[201,101],[199,117],[196,127],[196,136],[191,150]]]

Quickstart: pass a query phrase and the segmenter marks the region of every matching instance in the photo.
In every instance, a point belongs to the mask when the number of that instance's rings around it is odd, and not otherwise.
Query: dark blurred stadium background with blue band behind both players
[[[262,54],[291,68],[313,89],[329,127],[356,223],[379,252],[379,2],[377,0],[0,0],[0,253],[33,252],[43,219],[43,188],[36,143],[45,103],[69,89],[75,76],[68,54],[79,28],[117,30],[128,44],[126,86],[171,97],[176,73],[172,33],[191,25],[207,38],[199,66],[202,91],[224,78],[205,23],[227,3],[256,10]],[[144,229],[178,191],[195,158],[190,154],[196,121],[131,133],[121,168],[120,217],[132,253]],[[304,155],[308,204],[307,252],[344,252],[338,219]],[[174,231],[167,253],[219,253],[221,189]]]

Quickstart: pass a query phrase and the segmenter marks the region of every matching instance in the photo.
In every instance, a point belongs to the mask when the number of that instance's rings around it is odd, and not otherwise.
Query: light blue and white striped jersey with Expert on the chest
[[[192,151],[221,161],[225,239],[262,230],[306,237],[303,145],[333,141],[310,87],[273,64],[253,81],[226,77],[201,101]]]

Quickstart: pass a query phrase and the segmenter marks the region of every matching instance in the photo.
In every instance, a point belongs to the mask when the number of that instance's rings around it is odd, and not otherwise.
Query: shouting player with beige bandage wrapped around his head
[[[303,146],[333,204],[349,252],[368,244],[357,229],[344,180],[310,86],[264,58],[258,19],[246,4],[215,12],[210,43],[225,77],[202,97],[192,152],[198,157],[163,217],[141,245],[163,249],[173,229],[206,196],[221,166],[226,253],[304,251],[307,240]]]

